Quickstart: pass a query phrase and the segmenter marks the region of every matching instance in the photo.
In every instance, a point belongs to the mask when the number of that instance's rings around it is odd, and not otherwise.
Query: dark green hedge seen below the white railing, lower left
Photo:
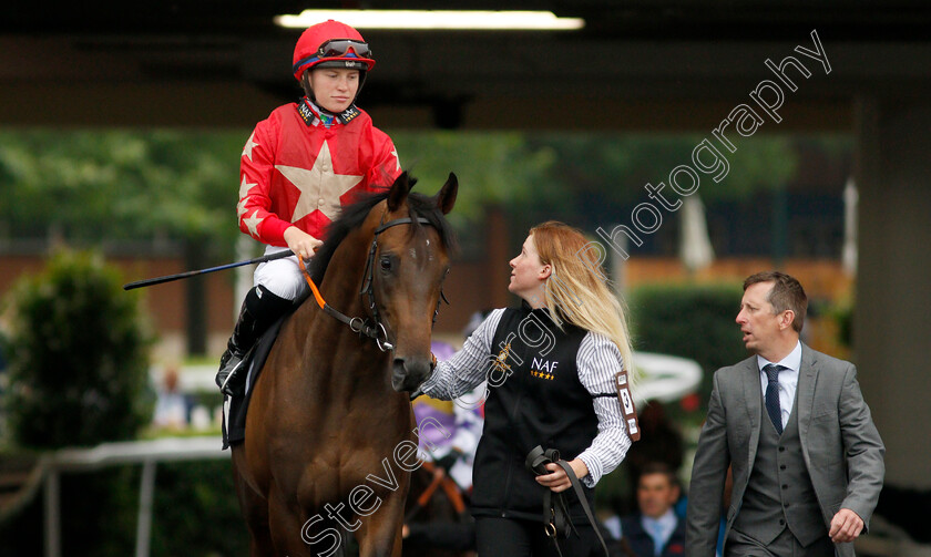
[[[2,456],[0,456],[2,457]],[[61,548],[69,557],[124,557],[135,550],[141,466],[61,476]],[[41,493],[0,524],[2,555],[42,555]],[[160,464],[152,508],[152,557],[248,555],[231,461]]]

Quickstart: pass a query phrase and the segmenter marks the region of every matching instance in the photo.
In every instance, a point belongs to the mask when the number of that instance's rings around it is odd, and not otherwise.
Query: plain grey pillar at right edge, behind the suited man
[[[924,95],[921,95],[924,96]],[[886,441],[887,483],[931,488],[931,103],[857,103],[860,186],[855,345]]]

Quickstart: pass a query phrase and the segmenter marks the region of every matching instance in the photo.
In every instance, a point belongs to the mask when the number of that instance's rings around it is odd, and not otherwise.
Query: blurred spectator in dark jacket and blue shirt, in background
[[[644,465],[637,479],[640,512],[621,519],[622,536],[636,557],[685,554],[685,520],[673,508],[678,498],[678,478],[667,465]]]

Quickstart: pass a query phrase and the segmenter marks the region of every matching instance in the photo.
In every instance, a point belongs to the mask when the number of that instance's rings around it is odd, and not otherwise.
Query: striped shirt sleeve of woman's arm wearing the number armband
[[[617,396],[595,396],[613,393],[614,374],[621,371],[623,359],[617,345],[603,334],[590,332],[582,339],[576,355],[579,380],[593,395],[598,433],[592,445],[577,457],[589,467],[589,475],[581,478],[589,487],[621,464],[631,447],[631,437],[624,423],[624,411]]]

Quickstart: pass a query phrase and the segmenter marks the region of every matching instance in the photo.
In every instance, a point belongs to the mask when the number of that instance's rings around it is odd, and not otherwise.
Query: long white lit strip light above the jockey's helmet
[[[275,23],[305,29],[335,19],[357,29],[572,31],[585,27],[581,18],[557,18],[551,11],[475,10],[304,10],[276,16]]]

